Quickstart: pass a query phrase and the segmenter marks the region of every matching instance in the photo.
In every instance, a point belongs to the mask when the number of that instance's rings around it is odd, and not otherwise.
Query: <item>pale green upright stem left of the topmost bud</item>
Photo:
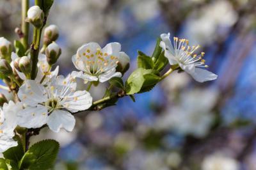
[[[21,30],[23,33],[23,37],[20,39],[22,45],[25,49],[28,49],[28,34],[29,34],[29,23],[26,22],[27,12],[29,8],[29,0],[22,0],[22,21],[21,21]]]

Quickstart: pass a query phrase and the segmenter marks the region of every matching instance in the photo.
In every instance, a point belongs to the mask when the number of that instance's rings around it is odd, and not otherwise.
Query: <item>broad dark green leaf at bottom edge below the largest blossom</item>
[[[49,169],[53,166],[60,144],[47,139],[33,144],[20,160],[20,169]]]

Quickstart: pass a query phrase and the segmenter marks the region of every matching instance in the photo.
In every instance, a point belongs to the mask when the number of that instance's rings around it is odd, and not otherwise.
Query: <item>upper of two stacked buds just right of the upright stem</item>
[[[59,36],[59,29],[55,25],[45,27],[44,29],[44,44],[49,45],[51,42],[57,40]]]

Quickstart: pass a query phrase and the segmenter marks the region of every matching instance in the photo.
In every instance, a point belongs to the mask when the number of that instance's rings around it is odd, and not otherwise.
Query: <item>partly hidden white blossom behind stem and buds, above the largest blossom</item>
[[[15,61],[16,58],[19,58],[19,56],[16,53],[12,52],[12,63],[11,63],[12,68],[14,68],[13,62]],[[44,75],[46,75],[44,81],[42,82],[42,84],[46,84],[51,78],[57,77],[59,72],[59,66],[56,66],[56,68],[52,72],[50,67],[51,66],[48,64],[46,56],[44,54],[39,54],[38,63],[37,63],[38,70],[37,70],[35,81],[36,82],[42,81],[42,78],[44,77]],[[20,79],[22,80],[27,79],[24,73],[19,72],[19,70],[17,70],[16,68],[15,68],[15,71],[19,75]]]

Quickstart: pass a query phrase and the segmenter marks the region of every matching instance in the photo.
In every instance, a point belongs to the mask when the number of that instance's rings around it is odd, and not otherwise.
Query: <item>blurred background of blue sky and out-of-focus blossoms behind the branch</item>
[[[45,128],[33,141],[61,143],[54,169],[256,170],[255,0],[58,0],[47,24],[60,28],[63,75],[75,70],[78,47],[93,41],[122,44],[127,77],[137,50],[152,54],[157,37],[170,32],[199,44],[219,76],[200,84],[175,72],[135,103],[122,98],[77,115],[72,133]],[[19,26],[20,1],[0,0],[0,36],[17,39]],[[95,100],[106,86],[91,89]]]

